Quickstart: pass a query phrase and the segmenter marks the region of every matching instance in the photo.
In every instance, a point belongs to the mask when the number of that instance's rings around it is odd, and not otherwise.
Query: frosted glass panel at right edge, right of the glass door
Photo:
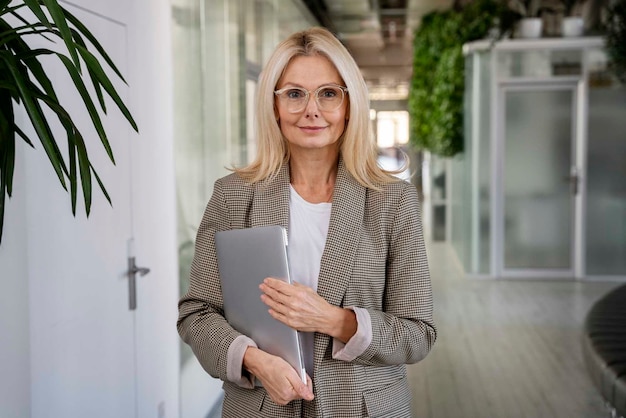
[[[587,274],[626,275],[626,86],[589,52]]]

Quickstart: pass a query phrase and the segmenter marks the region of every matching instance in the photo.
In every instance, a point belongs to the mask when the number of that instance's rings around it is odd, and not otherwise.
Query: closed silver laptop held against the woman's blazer
[[[281,226],[218,231],[215,247],[226,320],[260,349],[291,364],[306,384],[298,332],[270,316],[259,289],[266,277],[291,283],[287,231]]]

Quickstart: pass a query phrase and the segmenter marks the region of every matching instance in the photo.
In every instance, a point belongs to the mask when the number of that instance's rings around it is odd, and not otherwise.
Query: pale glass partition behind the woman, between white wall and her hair
[[[316,22],[301,0],[171,0],[171,7],[182,294],[214,181],[254,157],[258,74],[283,37]],[[181,417],[212,416],[220,387],[182,344]]]

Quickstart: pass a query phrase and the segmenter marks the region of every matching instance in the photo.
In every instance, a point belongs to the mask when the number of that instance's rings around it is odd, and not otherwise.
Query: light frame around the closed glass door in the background
[[[491,270],[498,278],[515,279],[580,279],[584,277],[584,208],[586,201],[586,161],[587,161],[587,136],[586,136],[586,84],[579,77],[563,77],[559,79],[522,79],[498,82],[494,93],[498,106],[494,106],[493,121],[495,122],[495,140],[492,142],[492,218],[491,218],[491,243],[494,249],[491,252]],[[571,220],[571,262],[568,269],[507,269],[504,266],[504,117],[505,117],[505,94],[510,91],[546,91],[567,90],[572,92],[574,103],[572,104],[572,166],[578,172],[578,193],[572,202]]]

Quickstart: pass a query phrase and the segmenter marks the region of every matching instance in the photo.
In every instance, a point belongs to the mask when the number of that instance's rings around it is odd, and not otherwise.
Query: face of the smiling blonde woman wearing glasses
[[[298,56],[291,60],[285,68],[276,90],[286,87],[299,87],[309,92],[309,101],[298,112],[288,109],[286,97],[276,96],[276,112],[280,130],[289,142],[292,153],[307,150],[338,149],[338,139],[346,126],[348,97],[344,94],[343,103],[335,110],[323,110],[315,100],[315,91],[320,86],[344,86],[339,72],[324,56]],[[298,90],[288,90],[291,97],[299,95]],[[320,100],[332,94],[321,91]],[[292,111],[289,111],[292,110]]]

